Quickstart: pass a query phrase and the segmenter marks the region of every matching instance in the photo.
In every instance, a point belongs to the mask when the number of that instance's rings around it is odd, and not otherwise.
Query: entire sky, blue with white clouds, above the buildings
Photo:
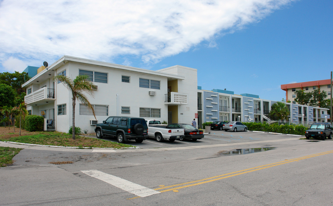
[[[330,79],[333,70],[331,0],[110,2],[0,1],[0,72],[63,55],[182,65],[197,69],[204,90],[281,101],[281,84]]]

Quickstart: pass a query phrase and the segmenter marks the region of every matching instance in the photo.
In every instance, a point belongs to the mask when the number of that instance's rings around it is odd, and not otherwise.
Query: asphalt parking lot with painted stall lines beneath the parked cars
[[[204,138],[192,141],[186,139],[185,141],[175,140],[170,142],[169,140],[164,140],[163,142],[157,142],[155,138],[147,138],[146,141],[142,143],[137,143],[134,140],[126,142],[136,147],[143,149],[147,148],[162,148],[162,147],[181,147],[181,146],[194,146],[194,145],[210,145],[210,144],[227,144],[235,142],[252,142],[252,141],[262,141],[262,140],[274,140],[274,139],[284,139],[284,138],[304,138],[302,136],[287,135],[287,134],[274,134],[274,133],[262,133],[253,131],[219,131],[211,130],[210,134],[204,135]],[[116,137],[105,136],[104,140],[117,142]]]

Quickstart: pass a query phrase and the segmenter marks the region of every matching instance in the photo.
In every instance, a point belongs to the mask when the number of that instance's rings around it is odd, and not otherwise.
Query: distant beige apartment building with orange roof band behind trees
[[[292,103],[296,103],[295,102],[296,90],[304,90],[304,92],[312,92],[313,90],[316,89],[320,89],[322,91],[327,92],[327,99],[331,99],[330,79],[281,85],[281,90],[286,91],[286,101],[290,100]]]

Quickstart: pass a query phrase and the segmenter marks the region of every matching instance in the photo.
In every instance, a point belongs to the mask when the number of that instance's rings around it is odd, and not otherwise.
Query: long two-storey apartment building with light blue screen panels
[[[271,106],[277,101],[263,100],[257,95],[234,95],[232,91],[201,90],[198,87],[198,126],[209,121],[270,121]],[[302,124],[327,121],[327,108],[285,103],[290,111],[287,121]]]

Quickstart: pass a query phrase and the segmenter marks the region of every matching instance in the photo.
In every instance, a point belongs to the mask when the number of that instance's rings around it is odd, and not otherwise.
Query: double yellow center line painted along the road
[[[296,159],[289,159],[289,160],[285,160],[285,161],[281,161],[281,162],[265,164],[265,165],[261,165],[261,166],[257,166],[257,167],[252,167],[249,169],[239,170],[236,172],[222,174],[222,175],[218,175],[218,176],[214,176],[214,177],[208,177],[205,179],[195,180],[195,181],[191,181],[191,182],[185,182],[185,183],[175,184],[175,185],[170,185],[170,186],[163,186],[160,188],[156,188],[155,190],[159,190],[160,192],[174,191],[174,190],[178,190],[178,189],[185,188],[185,187],[191,187],[191,186],[200,185],[200,184],[204,184],[204,183],[208,183],[208,182],[213,182],[216,180],[225,179],[228,177],[233,177],[233,176],[237,176],[237,175],[241,175],[241,174],[246,174],[249,172],[254,172],[254,171],[261,170],[261,169],[266,169],[269,167],[274,167],[274,166],[278,166],[278,165],[282,165],[282,164],[286,164],[286,163],[290,163],[290,162],[295,162],[298,160],[307,159],[307,158],[311,158],[311,157],[316,157],[316,156],[320,156],[320,155],[324,155],[324,154],[329,154],[329,153],[333,153],[333,150],[318,153],[318,154],[312,154],[312,155],[308,155],[308,156],[304,156],[304,157],[299,157]],[[169,189],[166,189],[166,188],[169,188]],[[162,189],[165,189],[165,190],[162,190]]]

